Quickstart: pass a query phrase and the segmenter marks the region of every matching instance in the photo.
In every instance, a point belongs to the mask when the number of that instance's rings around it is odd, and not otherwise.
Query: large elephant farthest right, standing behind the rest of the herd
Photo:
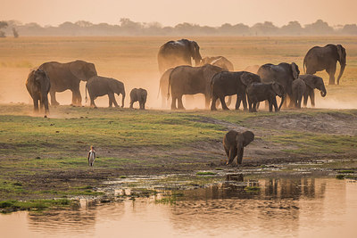
[[[346,66],[346,52],[342,45],[328,44],[324,47],[312,47],[303,58],[303,69],[306,66],[306,74],[315,74],[317,71],[326,70],[329,76],[328,84],[334,85],[337,62],[341,66],[337,77],[337,85],[339,85]]]

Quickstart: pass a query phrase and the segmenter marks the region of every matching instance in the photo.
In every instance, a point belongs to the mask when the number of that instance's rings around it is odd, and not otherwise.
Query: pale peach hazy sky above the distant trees
[[[318,19],[330,25],[357,23],[357,0],[0,0],[0,21],[58,25],[64,21],[118,24],[131,21],[181,22],[220,26],[223,23],[288,21],[302,25]]]

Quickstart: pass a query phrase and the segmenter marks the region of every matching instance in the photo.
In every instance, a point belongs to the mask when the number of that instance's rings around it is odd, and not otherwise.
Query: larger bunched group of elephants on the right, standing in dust
[[[191,66],[191,58],[195,67]],[[335,84],[336,62],[341,65],[337,84],[342,77],[346,65],[346,52],[342,45],[315,46],[306,53],[303,67],[306,74],[300,75],[295,62],[281,62],[278,65],[266,63],[256,74],[248,71],[234,71],[233,64],[223,56],[204,57],[199,53],[195,41],[181,39],[162,45],[158,54],[159,70],[162,73],[159,92],[162,94],[162,106],[165,106],[165,95],[171,96],[171,110],[185,109],[182,96],[187,94],[204,94],[205,108],[217,110],[217,100],[223,110],[228,110],[225,97],[237,95],[236,110],[243,103],[244,110],[255,112],[259,103],[265,101],[266,107],[279,111],[285,107],[306,107],[310,98],[311,106],[315,106],[314,89],[320,90],[324,97],[327,94],[323,79],[314,73],[326,70],[329,75],[329,85]],[[276,96],[281,97],[278,106]],[[289,104],[287,105],[287,100]],[[177,102],[177,103],[176,103]]]

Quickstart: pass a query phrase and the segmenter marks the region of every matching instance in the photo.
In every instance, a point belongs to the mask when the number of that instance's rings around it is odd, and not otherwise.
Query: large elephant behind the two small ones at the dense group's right
[[[278,65],[271,63],[264,64],[259,68],[258,75],[262,78],[263,83],[271,83],[275,81],[283,86],[285,91],[284,97],[286,98],[287,94],[290,98],[289,107],[293,106],[293,101],[291,100],[293,98],[292,84],[300,75],[299,67],[295,62],[292,62],[291,64],[281,62]],[[284,106],[286,106],[286,101]]]

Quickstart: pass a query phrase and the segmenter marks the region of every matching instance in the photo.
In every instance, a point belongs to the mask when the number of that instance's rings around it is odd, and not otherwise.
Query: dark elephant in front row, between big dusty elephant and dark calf
[[[220,103],[222,104],[223,110],[228,110],[225,102],[225,96],[237,94],[236,110],[239,109],[240,102],[243,101],[244,109],[247,110],[246,99],[245,99],[245,89],[247,86],[253,82],[261,82],[262,79],[259,75],[246,72],[220,72],[213,76],[211,80],[211,90],[212,90],[212,104],[211,110],[215,111],[216,101],[220,98]]]

